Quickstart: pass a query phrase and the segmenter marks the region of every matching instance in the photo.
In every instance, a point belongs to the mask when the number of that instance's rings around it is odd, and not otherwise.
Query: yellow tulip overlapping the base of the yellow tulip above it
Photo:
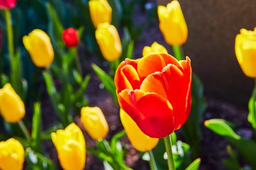
[[[121,56],[121,40],[114,25],[108,22],[99,23],[95,36],[99,49],[107,61],[115,61]]]

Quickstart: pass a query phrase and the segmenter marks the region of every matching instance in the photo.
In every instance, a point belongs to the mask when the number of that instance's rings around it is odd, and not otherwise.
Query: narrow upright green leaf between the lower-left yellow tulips
[[[31,147],[34,151],[41,151],[41,110],[40,102],[34,103],[34,114],[32,118]]]

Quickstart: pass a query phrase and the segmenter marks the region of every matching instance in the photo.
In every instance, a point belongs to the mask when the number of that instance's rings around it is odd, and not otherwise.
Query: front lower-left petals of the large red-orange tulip
[[[162,138],[173,132],[173,108],[162,96],[142,90],[125,89],[119,93],[118,100],[121,108],[146,135]]]

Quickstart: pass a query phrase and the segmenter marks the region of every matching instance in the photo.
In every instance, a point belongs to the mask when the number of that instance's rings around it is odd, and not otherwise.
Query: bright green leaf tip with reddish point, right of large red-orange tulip
[[[227,136],[234,139],[241,139],[224,119],[209,119],[204,121],[204,125],[220,136]]]

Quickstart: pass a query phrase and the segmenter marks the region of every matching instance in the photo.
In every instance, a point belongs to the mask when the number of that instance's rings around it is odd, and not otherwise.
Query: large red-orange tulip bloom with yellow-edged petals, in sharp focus
[[[116,71],[120,107],[140,130],[155,138],[170,135],[188,119],[191,109],[190,59],[166,53],[125,59]]]

